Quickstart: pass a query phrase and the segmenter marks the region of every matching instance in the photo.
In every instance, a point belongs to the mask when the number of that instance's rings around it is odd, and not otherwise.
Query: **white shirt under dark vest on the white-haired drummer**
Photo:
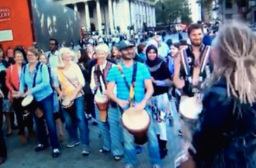
[[[99,69],[102,71],[102,74],[103,74],[103,69],[106,68],[106,64],[107,64],[107,61],[103,65],[99,65]],[[97,66],[97,65],[95,65],[95,66]],[[96,87],[97,87],[97,85],[95,83],[95,78],[94,78],[95,66],[92,67],[92,74],[91,74],[91,84],[90,84],[90,87],[92,89],[92,93],[95,93],[95,90],[96,90]],[[116,66],[115,64],[112,64],[112,67],[115,67],[115,66]],[[102,77],[99,77],[99,81],[100,81],[100,84],[102,85],[102,93],[98,89],[95,94],[105,94],[106,93],[106,87],[105,87],[104,81],[102,80]],[[116,94],[116,86],[114,88],[114,94]]]

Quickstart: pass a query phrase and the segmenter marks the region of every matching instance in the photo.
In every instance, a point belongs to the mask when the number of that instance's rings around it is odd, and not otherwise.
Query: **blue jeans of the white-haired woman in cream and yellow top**
[[[66,121],[67,132],[69,135],[69,142],[78,142],[78,129],[80,132],[81,144],[84,146],[89,146],[89,129],[88,121],[85,118],[85,98],[81,96],[74,99],[75,105],[75,119],[74,121],[67,111],[63,110],[63,115]]]

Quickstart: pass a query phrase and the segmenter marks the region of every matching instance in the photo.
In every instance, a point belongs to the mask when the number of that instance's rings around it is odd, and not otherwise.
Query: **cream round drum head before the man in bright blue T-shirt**
[[[150,116],[147,111],[138,111],[137,108],[129,108],[123,112],[123,125],[130,130],[140,131],[147,128],[150,123]]]

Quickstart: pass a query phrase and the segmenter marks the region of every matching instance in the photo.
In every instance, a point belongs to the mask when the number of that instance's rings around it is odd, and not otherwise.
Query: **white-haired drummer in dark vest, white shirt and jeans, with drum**
[[[122,130],[119,127],[120,116],[116,103],[110,103],[106,96],[106,77],[109,70],[116,65],[106,60],[108,54],[109,46],[106,44],[100,44],[95,48],[98,63],[92,67],[90,87],[95,94],[95,104],[97,106],[95,112],[102,136],[102,148],[99,149],[99,152],[108,153],[111,150],[114,159],[119,160],[123,156]]]

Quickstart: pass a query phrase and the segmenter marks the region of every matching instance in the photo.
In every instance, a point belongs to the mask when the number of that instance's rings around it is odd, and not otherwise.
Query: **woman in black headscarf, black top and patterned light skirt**
[[[171,73],[168,70],[167,63],[161,60],[157,55],[157,47],[154,45],[147,46],[147,67],[152,77],[154,94],[150,98],[149,104],[152,114],[154,115],[154,124],[157,130],[157,139],[160,148],[161,159],[167,155],[167,121],[171,116],[168,91],[172,85]]]

